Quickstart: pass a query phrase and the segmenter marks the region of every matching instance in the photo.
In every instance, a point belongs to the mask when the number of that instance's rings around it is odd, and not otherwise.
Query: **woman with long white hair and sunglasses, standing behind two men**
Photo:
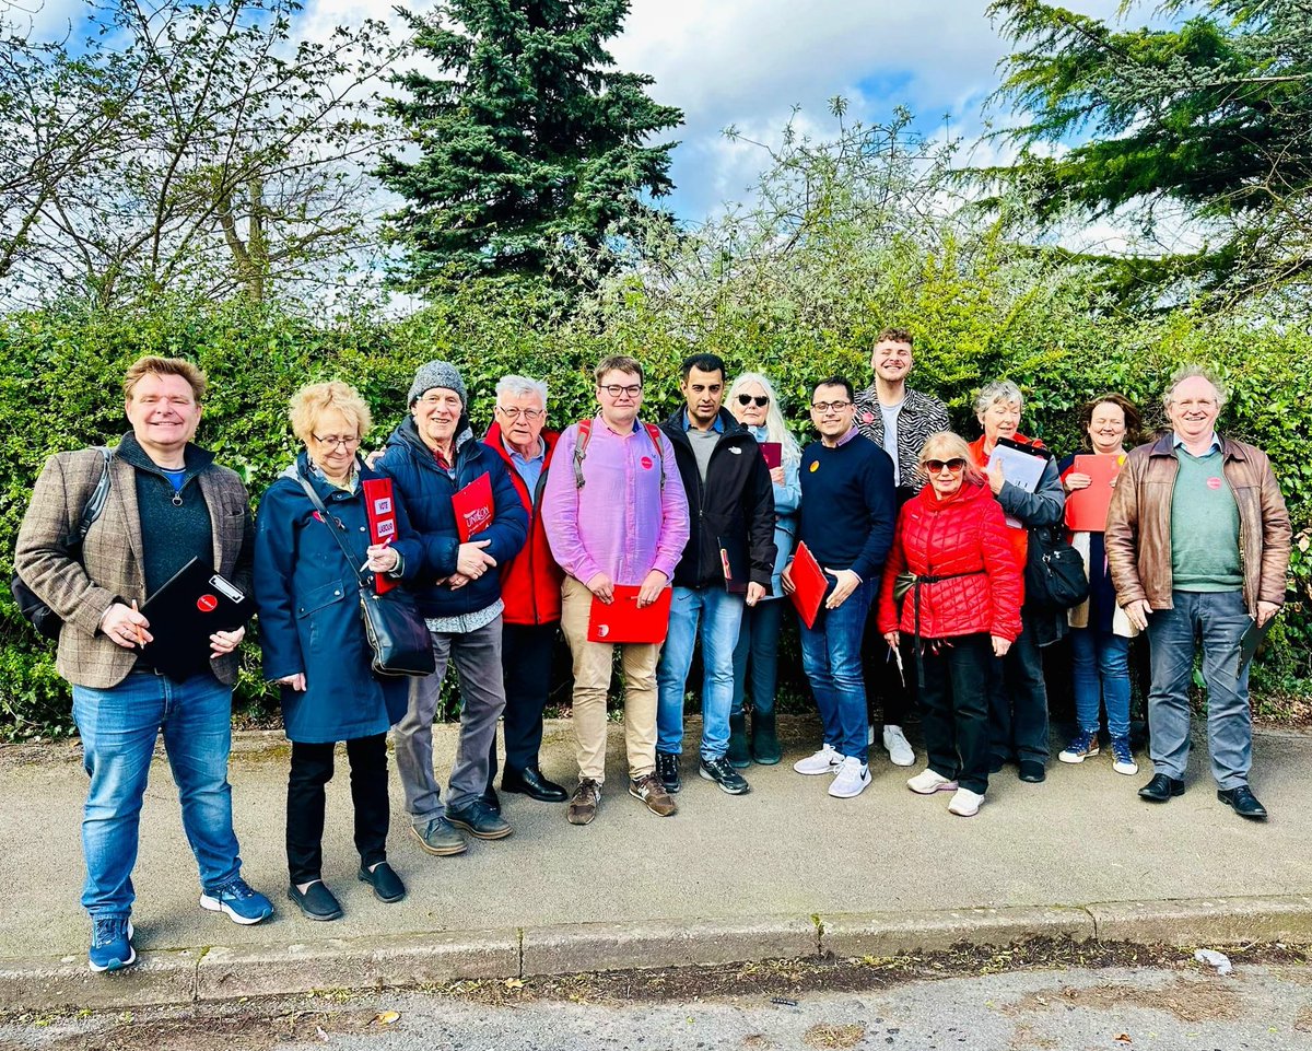
[[[729,387],[726,404],[733,419],[743,424],[758,442],[779,446],[779,466],[770,470],[774,483],[774,576],[770,593],[743,613],[737,646],[733,648],[733,707],[729,715],[729,762],[747,766],[752,760],[762,765],[779,761],[783,752],[775,731],[774,694],[778,684],[779,626],[783,619],[783,588],[779,577],[792,556],[796,533],[798,505],[802,503],[802,484],[798,467],[802,447],[789,433],[779,409],[774,384],[761,373],[743,373]],[[752,678],[752,737],[747,739],[747,716],[743,697],[750,668]]]

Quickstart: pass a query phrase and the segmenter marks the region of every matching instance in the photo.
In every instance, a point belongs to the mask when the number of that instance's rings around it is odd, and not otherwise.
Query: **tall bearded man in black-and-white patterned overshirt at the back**
[[[875,337],[870,354],[870,367],[875,382],[857,395],[857,426],[893,461],[893,484],[897,485],[897,505],[911,500],[924,484],[917,464],[925,440],[939,430],[951,429],[947,405],[929,394],[907,386],[914,358],[912,336],[905,328],[886,328]],[[862,652],[866,659],[865,677],[871,685],[867,695],[878,695],[883,702],[883,745],[897,766],[911,766],[916,753],[903,732],[911,714],[912,697],[908,693],[899,665],[887,643],[866,622]],[[904,661],[905,664],[905,661]],[[871,719],[871,744],[875,740]]]

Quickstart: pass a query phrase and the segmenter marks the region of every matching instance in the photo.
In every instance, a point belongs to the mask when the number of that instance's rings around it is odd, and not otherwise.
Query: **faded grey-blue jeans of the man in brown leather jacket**
[[[1194,640],[1202,636],[1207,684],[1207,747],[1221,789],[1248,785],[1253,762],[1253,718],[1248,668],[1239,670],[1239,639],[1253,619],[1240,592],[1172,592],[1172,609],[1148,615],[1152,690],[1148,693],[1153,768],[1178,781],[1189,765],[1189,686]]]

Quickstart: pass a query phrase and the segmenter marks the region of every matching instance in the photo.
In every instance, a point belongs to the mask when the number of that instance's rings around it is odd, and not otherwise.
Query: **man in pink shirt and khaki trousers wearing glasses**
[[[560,627],[573,653],[573,727],[579,787],[571,824],[597,815],[606,779],[606,693],[614,647],[588,642],[593,600],[611,602],[615,585],[639,587],[648,606],[669,587],[687,543],[687,499],[674,449],[659,428],[640,424],[643,366],[609,357],[596,369],[601,411],[560,436],[542,497],[551,554],[565,571]],[[674,800],[656,775],[656,660],[660,646],[623,643],[625,745],[628,794],[661,817]]]

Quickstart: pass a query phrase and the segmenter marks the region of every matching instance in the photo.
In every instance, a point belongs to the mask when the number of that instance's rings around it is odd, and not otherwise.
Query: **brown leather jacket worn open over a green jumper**
[[[1257,617],[1258,602],[1284,604],[1292,529],[1271,462],[1261,449],[1221,438],[1221,474],[1239,508],[1244,608]],[[1179,461],[1170,432],[1140,445],[1126,458],[1107,510],[1107,568],[1117,602],[1147,600],[1170,609],[1170,504]]]

